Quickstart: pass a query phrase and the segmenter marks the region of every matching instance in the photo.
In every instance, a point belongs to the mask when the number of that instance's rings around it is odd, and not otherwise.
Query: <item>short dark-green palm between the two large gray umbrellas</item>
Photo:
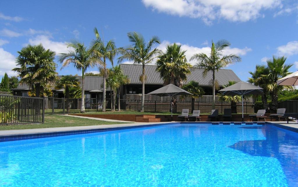
[[[199,98],[204,95],[204,89],[196,81],[190,81],[188,84],[184,84],[182,89],[193,94],[191,95],[191,111],[193,111],[195,109],[195,98]]]

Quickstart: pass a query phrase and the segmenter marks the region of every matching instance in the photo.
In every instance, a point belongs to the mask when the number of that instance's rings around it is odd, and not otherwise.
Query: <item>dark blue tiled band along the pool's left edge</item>
[[[144,127],[153,127],[153,126],[162,126],[175,124],[179,122],[169,122],[162,124],[148,124],[148,125],[134,125],[134,126],[123,126],[123,127],[112,127],[112,128],[95,128],[95,129],[86,129],[86,130],[70,130],[70,131],[60,131],[60,132],[46,132],[46,133],[30,133],[30,134],[21,134],[21,135],[5,135],[0,136],[0,142],[9,142],[9,141],[17,141],[17,140],[26,140],[26,139],[36,139],[36,138],[48,138],[55,136],[68,136],[75,134],[85,134],[85,133],[96,133],[96,132],[105,132],[105,131],[117,131],[124,129],[132,129],[132,128],[144,128]]]

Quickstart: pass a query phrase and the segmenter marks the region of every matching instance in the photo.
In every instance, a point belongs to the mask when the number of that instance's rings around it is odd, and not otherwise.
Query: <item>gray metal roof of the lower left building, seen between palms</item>
[[[61,76],[58,76],[58,77],[61,77]],[[76,76],[76,77],[77,79],[79,79],[80,84],[82,84],[82,76]],[[103,77],[85,76],[84,89],[86,91],[95,90],[95,89],[102,90],[103,89],[102,84],[103,84]],[[29,86],[26,84],[23,84],[23,85],[19,85],[17,88],[13,90],[26,90],[26,89],[29,89]]]

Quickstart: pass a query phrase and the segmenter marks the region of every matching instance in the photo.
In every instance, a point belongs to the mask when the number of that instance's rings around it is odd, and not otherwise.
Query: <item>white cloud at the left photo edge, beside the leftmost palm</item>
[[[6,72],[8,76],[14,76],[16,73],[12,71],[15,66],[15,56],[0,48],[0,76],[4,76]]]

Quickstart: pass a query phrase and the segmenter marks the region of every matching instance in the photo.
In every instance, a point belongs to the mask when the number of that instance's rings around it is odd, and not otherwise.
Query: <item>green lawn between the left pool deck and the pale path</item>
[[[26,125],[0,125],[0,131],[18,130],[18,129],[33,129],[33,128],[52,128],[52,127],[75,127],[89,125],[112,125],[123,124],[126,122],[109,122],[101,120],[91,120],[78,117],[45,115],[44,124],[26,124]],[[129,123],[129,122],[127,122]]]

